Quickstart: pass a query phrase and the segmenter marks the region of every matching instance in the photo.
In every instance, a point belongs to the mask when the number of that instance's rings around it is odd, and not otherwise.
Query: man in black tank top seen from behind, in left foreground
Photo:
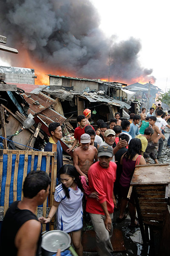
[[[23,201],[8,208],[0,235],[1,255],[36,256],[41,246],[41,224],[35,215],[48,196],[51,179],[47,173],[30,172],[23,185]],[[60,255],[57,254],[57,256]]]

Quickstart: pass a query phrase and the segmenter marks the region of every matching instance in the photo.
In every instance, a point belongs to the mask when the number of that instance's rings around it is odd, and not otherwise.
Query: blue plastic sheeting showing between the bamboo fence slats
[[[20,154],[19,166],[18,166],[18,175],[17,175],[17,200],[21,200],[22,194],[22,184],[23,184],[23,171],[24,171],[24,154]],[[16,154],[12,155],[12,169],[11,169],[11,184],[9,191],[9,204],[13,203],[13,184],[14,184],[14,168],[15,168]],[[37,170],[38,156],[34,156],[34,170]],[[4,206],[4,196],[5,196],[5,185],[6,185],[6,175],[7,175],[7,166],[8,166],[8,155],[3,155],[3,177],[2,177],[2,186],[0,194],[0,206]],[[41,161],[41,171],[46,171],[46,157],[42,156]],[[27,174],[31,172],[31,155],[28,155],[28,168]]]

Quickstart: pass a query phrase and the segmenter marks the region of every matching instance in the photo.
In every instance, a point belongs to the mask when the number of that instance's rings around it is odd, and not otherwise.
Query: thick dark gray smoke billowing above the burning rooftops
[[[40,62],[47,73],[57,75],[62,70],[63,75],[107,78],[110,50],[114,81],[154,79],[152,70],[139,64],[140,41],[130,38],[116,44],[114,37],[105,37],[99,23],[99,14],[88,0],[0,1],[0,34],[7,37],[8,46],[21,52],[8,55],[13,66],[26,67],[22,50],[27,49],[32,63]]]

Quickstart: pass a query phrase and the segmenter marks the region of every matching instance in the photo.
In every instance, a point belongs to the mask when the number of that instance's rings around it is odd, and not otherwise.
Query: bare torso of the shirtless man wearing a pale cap
[[[88,169],[94,163],[94,159],[97,161],[97,149],[94,146],[90,145],[87,150],[84,150],[83,146],[74,149],[74,166],[80,175],[88,174]]]

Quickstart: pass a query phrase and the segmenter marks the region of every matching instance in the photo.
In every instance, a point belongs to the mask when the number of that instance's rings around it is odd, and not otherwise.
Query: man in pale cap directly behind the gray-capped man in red
[[[108,129],[105,131],[104,133],[104,136],[103,136],[103,139],[104,139],[104,142],[101,144],[107,144],[111,147],[113,147],[113,144],[115,142],[115,131],[113,131],[112,129]],[[119,142],[117,143],[117,145],[113,148],[113,157],[112,157],[112,160],[111,161],[115,161],[114,160],[114,155],[117,153],[117,151],[121,148],[124,148],[127,146],[127,141],[126,140],[119,140]]]

